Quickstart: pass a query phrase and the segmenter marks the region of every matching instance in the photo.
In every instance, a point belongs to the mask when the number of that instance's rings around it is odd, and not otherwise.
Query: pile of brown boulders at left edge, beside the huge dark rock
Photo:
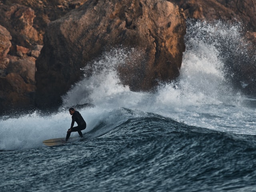
[[[4,13],[4,19],[10,21],[8,24],[13,26],[14,30],[12,37],[5,27],[0,26],[1,113],[4,110],[34,106],[36,57],[29,56],[29,48],[12,45],[11,40],[22,45],[28,44],[30,50],[33,50],[31,42],[39,40],[38,32],[33,28],[34,10],[18,4],[4,8],[6,11],[1,14]],[[2,22],[6,24],[4,20]]]

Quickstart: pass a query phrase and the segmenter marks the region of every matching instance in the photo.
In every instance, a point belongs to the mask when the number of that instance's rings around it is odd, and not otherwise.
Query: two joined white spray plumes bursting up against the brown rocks
[[[197,102],[219,104],[230,102],[231,95],[235,97],[234,102],[237,103],[236,97],[240,93],[234,92],[227,78],[228,71],[222,51],[224,51],[223,46],[228,47],[240,37],[239,26],[220,21],[213,24],[188,22],[185,36],[187,48],[183,56],[180,77],[176,82],[160,84],[157,93],[132,92],[128,86],[122,85],[118,76],[118,67],[124,65],[126,60],[132,59],[130,56],[134,49],[117,48],[105,52],[84,69],[85,72],[90,71],[90,75],[86,74],[84,80],[78,82],[62,97],[63,105],[92,103],[109,107],[140,108],[140,104],[152,101],[150,103],[154,107],[156,100],[170,100],[173,97],[175,97],[174,102],[179,102],[179,99],[182,103],[185,100],[192,101],[189,105]],[[223,42],[224,39],[226,42]],[[231,48],[233,46],[230,45]],[[165,88],[167,90],[164,90]],[[166,91],[170,91],[166,98],[157,98],[159,92]]]

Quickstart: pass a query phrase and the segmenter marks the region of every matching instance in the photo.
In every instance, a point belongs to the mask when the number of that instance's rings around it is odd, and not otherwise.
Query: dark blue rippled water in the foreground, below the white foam
[[[156,114],[102,136],[0,152],[1,191],[255,191],[256,136],[187,126]]]

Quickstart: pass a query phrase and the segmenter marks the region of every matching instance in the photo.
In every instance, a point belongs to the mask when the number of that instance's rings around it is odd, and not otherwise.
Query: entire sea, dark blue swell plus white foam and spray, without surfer
[[[176,82],[130,91],[116,69],[139,51],[118,48],[90,63],[93,75],[63,96],[58,112],[2,116],[0,191],[256,191],[256,99],[233,88],[220,49],[241,39],[240,26],[188,26]],[[44,146],[66,136],[67,108],[78,104],[84,138]]]

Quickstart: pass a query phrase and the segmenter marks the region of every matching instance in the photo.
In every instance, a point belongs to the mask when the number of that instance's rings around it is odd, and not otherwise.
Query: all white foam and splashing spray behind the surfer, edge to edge
[[[105,52],[90,64],[92,74],[86,75],[62,97],[61,108],[84,103],[94,104],[95,107],[82,108],[79,112],[86,120],[86,132],[104,122],[106,129],[97,133],[97,136],[126,121],[130,116],[141,115],[141,112],[170,117],[190,126],[256,134],[255,108],[243,105],[244,100],[249,99],[234,91],[227,79],[228,70],[223,58],[228,52],[223,52],[218,46],[218,40],[226,37],[237,41],[240,38],[239,28],[227,27],[221,22],[218,25],[190,23],[180,77],[175,83],[161,84],[154,93],[132,92],[128,86],[121,84],[117,68],[125,64],[130,52],[136,50],[119,48]],[[87,71],[88,68],[84,70]],[[126,113],[122,108],[136,112]],[[62,110],[51,115],[34,112],[18,118],[2,119],[0,150],[42,146],[44,139],[65,137],[70,123],[68,111]]]

